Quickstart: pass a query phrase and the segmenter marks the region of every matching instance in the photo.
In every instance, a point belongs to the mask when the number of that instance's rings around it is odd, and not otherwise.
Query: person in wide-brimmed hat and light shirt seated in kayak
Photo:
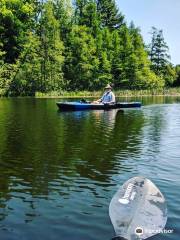
[[[103,96],[100,99],[94,101],[93,103],[113,104],[116,102],[115,95],[112,92],[111,85],[110,84],[106,85],[106,87],[104,89],[105,89],[105,92],[104,92]]]

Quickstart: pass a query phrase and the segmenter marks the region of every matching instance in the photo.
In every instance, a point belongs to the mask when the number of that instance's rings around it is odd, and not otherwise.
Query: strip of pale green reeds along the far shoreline
[[[180,96],[180,87],[154,90],[115,90],[116,97],[138,96]],[[37,98],[93,98],[102,95],[102,91],[53,91],[48,93],[36,92]]]

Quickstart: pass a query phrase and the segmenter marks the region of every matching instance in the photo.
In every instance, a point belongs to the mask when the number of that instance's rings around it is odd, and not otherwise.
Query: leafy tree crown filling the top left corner
[[[1,0],[0,38],[5,62],[15,63],[23,50],[26,31],[32,25],[34,3],[21,0]]]

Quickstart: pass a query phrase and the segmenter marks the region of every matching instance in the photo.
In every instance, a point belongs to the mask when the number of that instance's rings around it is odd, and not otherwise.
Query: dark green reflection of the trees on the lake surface
[[[48,199],[52,191],[67,196],[72,185],[77,185],[78,191],[89,189],[96,196],[90,180],[105,186],[112,172],[121,168],[117,157],[121,151],[131,147],[131,154],[137,152],[136,134],[143,126],[142,114],[128,116],[112,110],[66,112],[52,117],[44,110],[34,111],[38,103],[33,102],[28,110],[26,107],[27,102],[18,105],[12,101],[6,109],[7,118],[1,118],[2,219],[10,211],[4,212],[5,205],[16,198],[34,212],[33,198]],[[79,178],[89,180],[80,184]],[[32,199],[27,200],[27,196]],[[38,216],[27,212],[26,221],[31,215]]]

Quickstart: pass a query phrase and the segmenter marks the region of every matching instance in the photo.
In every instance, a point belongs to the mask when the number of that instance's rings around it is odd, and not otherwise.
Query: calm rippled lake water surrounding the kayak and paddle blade
[[[143,175],[180,239],[180,98],[140,110],[57,111],[55,99],[0,99],[0,239],[110,240],[109,202]]]

